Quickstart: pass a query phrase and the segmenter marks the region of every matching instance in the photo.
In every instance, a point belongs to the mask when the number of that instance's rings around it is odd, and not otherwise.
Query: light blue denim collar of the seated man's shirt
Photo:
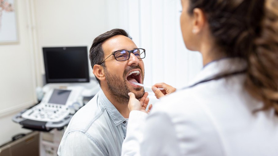
[[[116,126],[125,121],[118,109],[107,99],[102,89],[99,90],[98,97]]]

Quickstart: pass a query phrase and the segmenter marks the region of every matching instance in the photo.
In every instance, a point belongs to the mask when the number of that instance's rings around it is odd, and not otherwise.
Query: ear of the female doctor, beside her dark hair
[[[193,17],[194,17],[193,30],[195,33],[199,33],[205,25],[205,21],[206,21],[205,13],[200,8],[195,8],[193,10]]]

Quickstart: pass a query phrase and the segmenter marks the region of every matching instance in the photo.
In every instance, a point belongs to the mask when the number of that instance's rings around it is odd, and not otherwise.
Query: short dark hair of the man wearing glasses
[[[126,32],[123,29],[112,29],[112,30],[110,30],[108,32],[105,32],[105,33],[99,35],[98,37],[96,37],[95,40],[93,41],[93,44],[92,44],[91,48],[90,48],[90,54],[89,54],[92,69],[94,68],[95,64],[101,63],[104,59],[104,52],[103,52],[103,49],[102,49],[102,43],[104,41],[106,41],[107,39],[109,39],[110,37],[113,37],[113,36],[116,36],[116,35],[123,35],[123,36],[126,36],[126,37],[132,39],[129,36],[128,32]],[[105,68],[106,67],[105,62],[103,62],[101,64],[101,66],[103,68]],[[98,80],[98,83],[100,84],[99,79],[97,77],[96,77],[96,79]]]

